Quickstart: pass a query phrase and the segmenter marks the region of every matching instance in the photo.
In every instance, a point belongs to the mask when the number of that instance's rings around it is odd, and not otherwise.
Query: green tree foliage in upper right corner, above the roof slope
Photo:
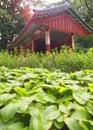
[[[71,6],[79,16],[93,26],[93,2],[92,0],[71,0]]]

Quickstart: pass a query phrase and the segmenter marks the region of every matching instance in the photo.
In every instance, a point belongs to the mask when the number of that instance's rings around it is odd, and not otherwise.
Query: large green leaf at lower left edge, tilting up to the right
[[[10,120],[11,118],[14,117],[16,114],[18,108],[20,106],[19,102],[11,102],[8,105],[6,105],[4,108],[1,109],[1,116],[4,122]]]

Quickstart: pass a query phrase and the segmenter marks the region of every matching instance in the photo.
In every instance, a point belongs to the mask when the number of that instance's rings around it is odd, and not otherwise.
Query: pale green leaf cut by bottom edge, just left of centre
[[[29,130],[45,130],[45,124],[41,115],[31,117]]]

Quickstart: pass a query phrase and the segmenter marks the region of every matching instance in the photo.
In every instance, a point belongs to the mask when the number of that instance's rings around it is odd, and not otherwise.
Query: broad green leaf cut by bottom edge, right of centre
[[[70,130],[84,130],[80,124],[79,121],[73,119],[73,118],[67,118],[64,120],[65,124]]]

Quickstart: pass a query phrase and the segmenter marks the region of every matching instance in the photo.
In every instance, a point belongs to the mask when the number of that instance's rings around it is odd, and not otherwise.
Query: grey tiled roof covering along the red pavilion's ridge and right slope
[[[40,20],[45,17],[50,17],[56,14],[61,14],[63,12],[69,13],[79,24],[81,24],[89,33],[93,33],[93,28],[89,26],[85,21],[83,21],[77,13],[69,6],[66,4],[62,4],[57,7],[53,8],[48,8],[48,9],[43,9],[43,10],[34,10],[34,16],[32,19],[35,20]]]

